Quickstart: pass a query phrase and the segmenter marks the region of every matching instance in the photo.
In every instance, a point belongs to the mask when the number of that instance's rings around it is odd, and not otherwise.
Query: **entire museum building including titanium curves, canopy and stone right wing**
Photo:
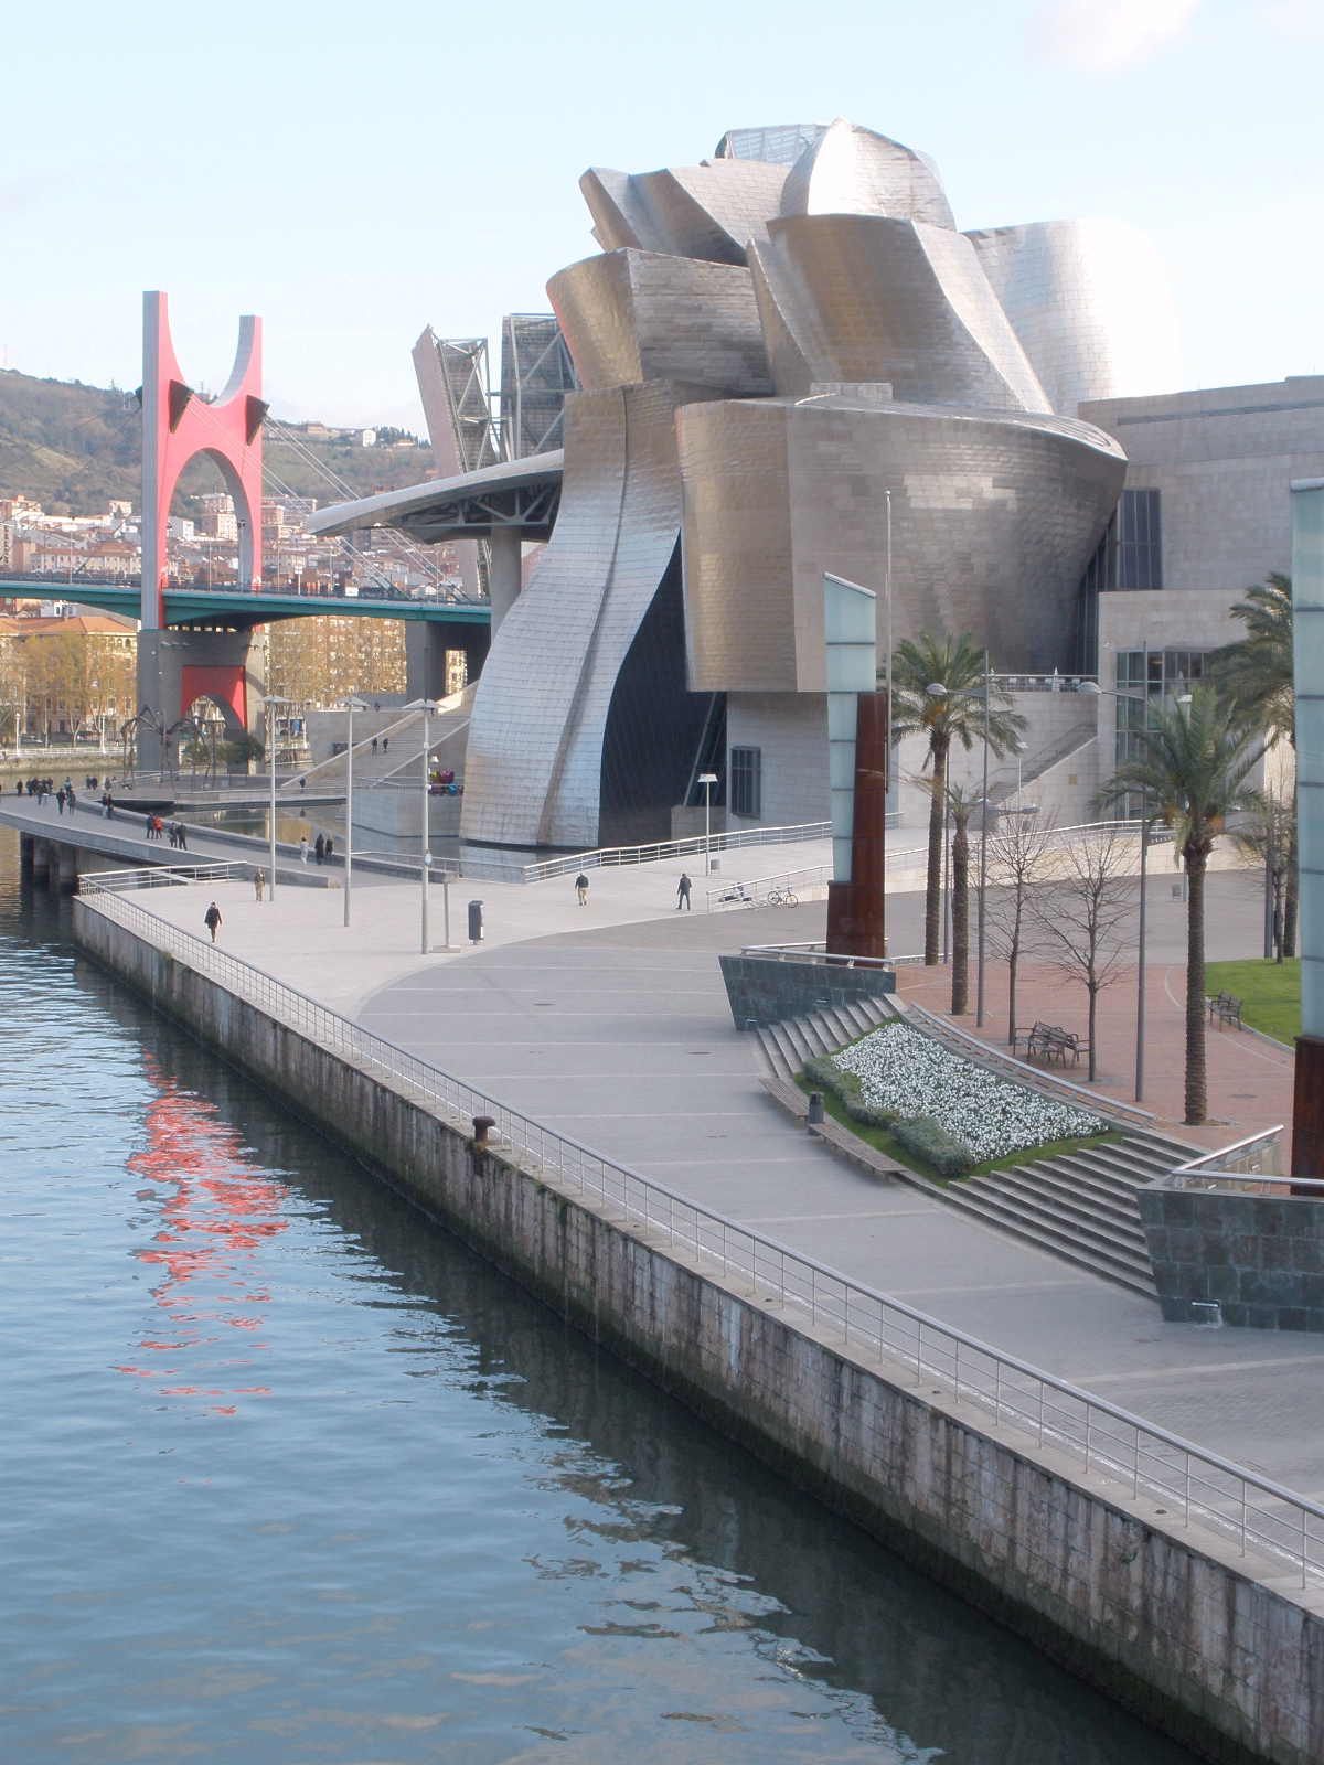
[[[581,189],[602,249],[547,284],[537,335],[574,381],[545,448],[503,447],[482,339],[425,332],[443,477],[309,522],[489,547],[464,837],[662,838],[694,828],[708,770],[729,824],[824,819],[824,572],[874,590],[893,639],[985,644],[1029,724],[994,800],[1084,819],[1112,694],[1199,678],[1232,604],[1285,568],[1324,381],[1176,392],[1142,235],[960,233],[932,161],[844,118]],[[535,538],[537,567],[498,584]],[[1107,692],[1080,694],[1095,674]],[[902,750],[902,822],[927,814],[920,764]]]

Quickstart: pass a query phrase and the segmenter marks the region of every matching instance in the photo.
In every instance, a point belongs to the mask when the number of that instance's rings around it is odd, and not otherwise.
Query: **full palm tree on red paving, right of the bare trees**
[[[1123,761],[1095,807],[1110,808],[1130,792],[1147,791],[1186,860],[1186,1126],[1199,1128],[1207,1115],[1204,872],[1230,817],[1259,808],[1259,792],[1246,787],[1246,778],[1264,745],[1262,731],[1207,683],[1195,687],[1190,704],[1155,706],[1149,718],[1149,729],[1135,731],[1139,752]]]

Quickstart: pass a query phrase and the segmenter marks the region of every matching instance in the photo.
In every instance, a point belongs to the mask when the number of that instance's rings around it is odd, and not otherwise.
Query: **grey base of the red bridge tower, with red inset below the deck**
[[[226,718],[226,740],[263,736],[267,692],[267,632],[138,634],[138,710],[150,718],[138,725],[138,770],[162,771],[164,745],[159,731],[187,717],[194,699],[208,697]]]

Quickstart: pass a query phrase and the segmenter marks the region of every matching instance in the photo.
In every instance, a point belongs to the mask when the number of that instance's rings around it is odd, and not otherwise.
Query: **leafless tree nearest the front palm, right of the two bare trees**
[[[1135,884],[1132,837],[1103,822],[1059,845],[1052,868],[1057,881],[1033,895],[1033,914],[1049,962],[1089,994],[1089,1082],[1098,1077],[1098,995],[1128,967]]]

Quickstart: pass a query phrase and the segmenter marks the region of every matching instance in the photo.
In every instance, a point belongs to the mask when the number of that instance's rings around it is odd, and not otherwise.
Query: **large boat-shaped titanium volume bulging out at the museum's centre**
[[[678,413],[696,692],[823,692],[823,572],[883,595],[893,628],[971,630],[999,669],[1063,665],[1080,574],[1121,494],[1089,424],[867,399]],[[743,469],[722,471],[722,461]],[[775,531],[749,508],[786,512]]]

